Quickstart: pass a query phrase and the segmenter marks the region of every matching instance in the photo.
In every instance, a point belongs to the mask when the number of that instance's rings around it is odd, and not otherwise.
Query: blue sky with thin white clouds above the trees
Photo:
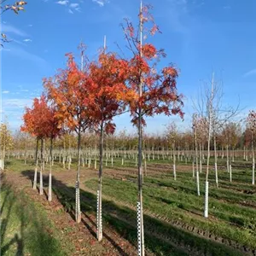
[[[9,1],[10,2],[10,1]],[[3,32],[13,41],[2,54],[3,119],[19,129],[24,107],[40,96],[42,78],[65,66],[65,53],[79,55],[81,40],[87,55],[96,57],[107,36],[108,49],[124,48],[119,26],[125,17],[137,22],[139,0],[33,0],[26,12],[2,16]],[[177,89],[185,96],[185,120],[158,116],[148,119],[148,132],[161,132],[174,120],[189,125],[192,100],[201,84],[214,71],[224,84],[224,105],[235,106],[240,98],[243,110],[255,109],[256,86],[256,1],[255,0],[148,0],[154,6],[155,22],[162,34],[148,38],[166,49],[170,62],[180,69]],[[119,130],[132,131],[129,115],[116,119]]]

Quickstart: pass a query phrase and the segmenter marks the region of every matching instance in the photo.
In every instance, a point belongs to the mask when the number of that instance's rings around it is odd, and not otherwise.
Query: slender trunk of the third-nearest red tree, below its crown
[[[81,222],[81,207],[80,207],[80,166],[81,166],[81,127],[79,127],[78,132],[78,172],[77,172],[77,181],[76,181],[76,222]]]

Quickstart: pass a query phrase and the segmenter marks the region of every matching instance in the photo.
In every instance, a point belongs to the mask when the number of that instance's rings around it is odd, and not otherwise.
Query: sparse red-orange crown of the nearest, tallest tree
[[[149,12],[150,6],[144,6],[139,17],[143,26],[143,38],[160,32],[154,24],[153,16]],[[140,26],[137,26],[140,27]],[[157,62],[166,54],[163,49],[156,49],[153,44],[141,44],[140,32],[135,32],[135,26],[126,20],[123,26],[127,47],[132,57],[129,61],[128,86],[134,97],[129,102],[132,123],[137,125],[138,108],[142,109],[143,116],[179,114],[183,118],[183,96],[177,93],[177,68],[172,65],[157,71]],[[139,96],[139,85],[142,84],[143,94]],[[145,119],[142,120],[146,125]]]

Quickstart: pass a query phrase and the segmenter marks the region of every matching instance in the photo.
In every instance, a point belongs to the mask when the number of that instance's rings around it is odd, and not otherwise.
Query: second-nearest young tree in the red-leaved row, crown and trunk
[[[120,60],[112,53],[104,51],[98,61],[90,64],[90,78],[93,81],[91,97],[94,99],[91,109],[96,130],[100,133],[100,166],[97,202],[97,238],[102,240],[102,166],[104,133],[113,134],[113,117],[125,110],[125,99],[130,95],[125,80],[127,79],[128,61]]]

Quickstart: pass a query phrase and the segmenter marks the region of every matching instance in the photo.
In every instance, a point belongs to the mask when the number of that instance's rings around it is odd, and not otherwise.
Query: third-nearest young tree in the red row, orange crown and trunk
[[[82,50],[82,59],[84,51]],[[88,70],[77,66],[72,54],[67,54],[67,68],[61,70],[55,79],[44,79],[44,86],[49,99],[55,102],[56,116],[61,119],[71,131],[78,134],[78,172],[76,179],[76,221],[81,221],[80,211],[80,166],[81,166],[81,134],[90,127],[90,109],[93,102],[90,96],[92,81]],[[82,61],[83,62],[83,61]],[[83,66],[83,65],[82,65]],[[87,67],[88,68],[88,67]]]

